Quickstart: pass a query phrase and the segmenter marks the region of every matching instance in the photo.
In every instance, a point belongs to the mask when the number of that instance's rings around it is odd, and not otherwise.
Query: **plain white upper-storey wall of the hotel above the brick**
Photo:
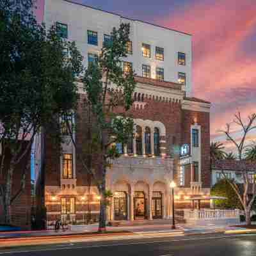
[[[68,40],[76,42],[84,57],[85,66],[88,65],[88,54],[99,54],[104,35],[110,35],[113,27],[118,28],[122,22],[129,23],[132,54],[129,54],[124,61],[132,63],[137,76],[143,76],[143,65],[150,66],[150,77],[153,79],[157,78],[156,70],[159,68],[163,70],[164,76],[161,79],[164,81],[183,83],[180,76],[185,74],[184,88],[186,96],[190,95],[191,35],[66,0],[45,0],[44,22],[47,28],[56,22],[67,25]],[[97,32],[97,45],[88,44],[88,30]],[[143,56],[143,44],[150,45],[150,57]],[[157,60],[156,47],[164,50],[164,60]],[[179,64],[179,52],[181,55],[185,54],[185,65]]]

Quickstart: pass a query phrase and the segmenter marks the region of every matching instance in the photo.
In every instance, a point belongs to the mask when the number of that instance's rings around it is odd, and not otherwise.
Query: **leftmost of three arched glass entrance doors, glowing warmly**
[[[116,192],[114,197],[115,220],[127,220],[127,194]]]

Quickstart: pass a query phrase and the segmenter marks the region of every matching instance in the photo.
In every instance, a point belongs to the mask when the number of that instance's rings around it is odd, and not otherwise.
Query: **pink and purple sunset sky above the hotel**
[[[36,14],[42,17],[37,0]],[[74,0],[193,35],[193,96],[212,102],[211,136],[256,112],[255,0]]]

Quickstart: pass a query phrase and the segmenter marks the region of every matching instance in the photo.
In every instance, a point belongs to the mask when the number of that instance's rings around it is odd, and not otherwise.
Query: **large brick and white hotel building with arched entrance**
[[[93,61],[93,54],[99,54],[102,40],[108,40],[114,26],[131,24],[131,54],[124,60],[124,70],[132,63],[138,74],[129,111],[136,136],[126,147],[118,145],[122,156],[108,169],[107,187],[114,195],[108,220],[170,218],[169,185],[173,179],[176,209],[188,209],[191,197],[204,200],[209,196],[211,104],[189,97],[191,36],[65,0],[46,0],[44,14],[47,27],[57,23],[63,37],[77,42],[85,65]],[[77,82],[77,86],[81,84]],[[86,95],[79,92],[82,102]],[[90,124],[81,105],[70,122],[76,124],[73,136],[77,150],[82,150]],[[60,216],[83,222],[90,215],[97,220],[97,188],[84,172],[70,138],[63,131],[66,143],[60,155],[47,134],[39,136],[40,154],[36,154],[35,164],[42,189],[36,191],[42,191],[47,223]]]

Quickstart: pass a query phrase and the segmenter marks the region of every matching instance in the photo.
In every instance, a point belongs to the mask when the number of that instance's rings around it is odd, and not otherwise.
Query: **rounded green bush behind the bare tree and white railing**
[[[232,181],[234,182],[234,180]],[[214,200],[215,206],[221,209],[236,209],[242,208],[241,202],[232,188],[230,183],[226,179],[219,180],[211,188],[211,195],[213,196],[223,196],[227,199]]]

